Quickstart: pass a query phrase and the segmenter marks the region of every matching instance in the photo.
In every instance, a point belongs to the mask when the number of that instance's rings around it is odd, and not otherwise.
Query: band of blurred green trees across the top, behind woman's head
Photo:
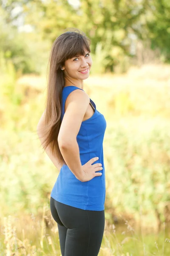
[[[92,73],[126,72],[140,58],[139,42],[170,61],[168,0],[80,0],[77,7],[67,0],[0,3],[0,49],[23,73],[44,73],[51,44],[70,27],[91,39]]]

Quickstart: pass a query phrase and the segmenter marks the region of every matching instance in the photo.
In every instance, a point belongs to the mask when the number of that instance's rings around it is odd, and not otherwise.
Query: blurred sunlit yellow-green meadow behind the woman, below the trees
[[[49,208],[58,170],[36,128],[46,78],[8,64],[0,84],[0,255],[60,256]],[[99,256],[170,255],[170,66],[90,76],[84,89],[105,116],[105,231]]]

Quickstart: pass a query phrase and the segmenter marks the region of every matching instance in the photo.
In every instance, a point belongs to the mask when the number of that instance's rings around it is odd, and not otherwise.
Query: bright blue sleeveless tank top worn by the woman
[[[68,95],[80,89],[76,86],[67,86],[62,90],[62,116],[65,112],[65,101]],[[82,89],[80,89],[82,90]],[[78,180],[67,165],[63,165],[57,181],[51,191],[51,197],[56,201],[84,210],[102,211],[105,209],[105,165],[103,159],[103,139],[106,129],[105,117],[96,110],[95,103],[90,99],[95,108],[93,116],[82,121],[77,134],[81,164],[84,165],[93,157],[99,157],[95,163],[102,163],[101,176],[96,176],[89,181]]]

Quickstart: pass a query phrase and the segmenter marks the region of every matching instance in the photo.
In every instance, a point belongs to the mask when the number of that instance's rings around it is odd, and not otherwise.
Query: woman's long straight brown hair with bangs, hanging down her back
[[[48,61],[48,86],[45,107],[45,126],[43,134],[44,150],[50,147],[52,153],[57,154],[59,163],[65,163],[59,150],[58,134],[61,126],[62,89],[65,86],[65,74],[61,70],[65,61],[75,56],[85,55],[85,50],[90,52],[90,40],[84,32],[73,29],[59,35],[54,41]]]

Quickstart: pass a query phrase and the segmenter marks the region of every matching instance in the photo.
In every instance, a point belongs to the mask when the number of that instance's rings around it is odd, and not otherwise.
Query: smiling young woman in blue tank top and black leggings
[[[45,112],[37,133],[59,170],[51,192],[62,256],[97,256],[105,227],[104,116],[83,90],[92,59],[79,30],[54,41]]]

